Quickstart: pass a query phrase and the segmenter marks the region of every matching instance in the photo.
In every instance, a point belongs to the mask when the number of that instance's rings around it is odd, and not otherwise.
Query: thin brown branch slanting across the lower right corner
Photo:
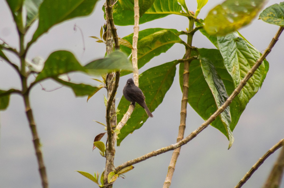
[[[249,172],[243,177],[243,179],[238,183],[238,185],[235,188],[242,187],[247,180],[252,176],[252,174],[262,165],[262,163],[277,149],[284,146],[284,139],[280,140],[277,144],[275,144],[272,148],[270,148],[250,169]]]

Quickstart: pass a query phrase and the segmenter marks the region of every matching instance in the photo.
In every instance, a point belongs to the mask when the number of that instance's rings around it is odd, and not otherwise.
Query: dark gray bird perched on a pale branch
[[[131,104],[135,105],[135,102],[140,104],[140,106],[142,106],[145,109],[149,118],[150,117],[153,118],[152,113],[150,112],[149,108],[145,103],[145,96],[143,92],[139,87],[135,86],[132,78],[129,78],[127,80],[126,85],[123,88],[123,95],[125,99],[131,102]]]

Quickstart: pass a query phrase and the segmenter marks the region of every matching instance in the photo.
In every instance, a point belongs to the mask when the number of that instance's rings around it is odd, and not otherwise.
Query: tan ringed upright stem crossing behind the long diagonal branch
[[[193,30],[194,20],[189,19],[189,31]],[[192,38],[193,33],[188,33],[187,35],[187,44],[189,46],[192,45]],[[191,56],[191,48],[186,47],[185,48],[185,59],[188,59]],[[182,92],[182,99],[181,99],[181,111],[180,111],[180,124],[179,124],[179,131],[178,131],[178,137],[177,142],[181,141],[184,136],[185,132],[185,123],[186,123],[186,115],[187,115],[187,101],[188,101],[188,82],[189,82],[189,65],[190,61],[184,61],[184,67],[183,67],[183,92]],[[166,176],[166,180],[164,181],[163,188],[168,188],[171,185],[172,177],[174,175],[174,170],[176,166],[176,161],[178,160],[179,153],[181,148],[177,148],[174,150],[172,154],[172,158],[170,161],[170,165],[168,167],[168,173]]]

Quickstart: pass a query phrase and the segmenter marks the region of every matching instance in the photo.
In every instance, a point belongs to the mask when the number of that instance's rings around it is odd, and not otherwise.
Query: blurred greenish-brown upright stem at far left
[[[21,82],[22,82],[22,96],[24,99],[24,104],[25,104],[25,111],[26,111],[26,116],[30,125],[30,129],[32,132],[32,138],[33,138],[33,143],[34,143],[34,148],[36,151],[36,157],[37,157],[37,164],[39,167],[39,174],[41,177],[41,184],[43,188],[48,188],[48,180],[47,180],[47,173],[45,169],[45,165],[43,162],[43,155],[40,149],[40,141],[39,141],[39,136],[37,134],[37,129],[36,129],[36,123],[34,121],[34,115],[32,113],[32,109],[30,106],[30,100],[29,100],[29,89],[27,86],[27,74],[26,74],[26,51],[24,49],[24,34],[21,32],[18,32],[20,36],[20,60],[21,60],[21,70],[20,70],[20,76],[21,76]]]

